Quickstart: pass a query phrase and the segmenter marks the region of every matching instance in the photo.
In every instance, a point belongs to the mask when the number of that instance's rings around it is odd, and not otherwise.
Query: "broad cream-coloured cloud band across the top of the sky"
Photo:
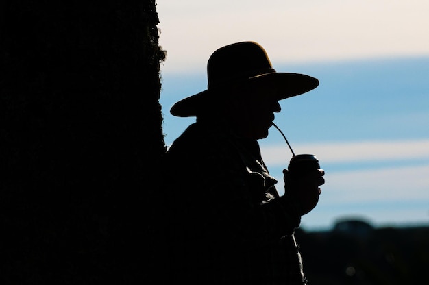
[[[273,62],[429,51],[426,0],[164,0],[157,10],[167,70],[204,70],[215,49],[241,40],[260,42]]]

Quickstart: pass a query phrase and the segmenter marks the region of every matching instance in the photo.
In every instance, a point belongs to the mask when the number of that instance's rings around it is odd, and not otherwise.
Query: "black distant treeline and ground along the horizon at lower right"
[[[297,240],[309,284],[429,284],[429,227],[344,221],[329,232],[299,230]]]

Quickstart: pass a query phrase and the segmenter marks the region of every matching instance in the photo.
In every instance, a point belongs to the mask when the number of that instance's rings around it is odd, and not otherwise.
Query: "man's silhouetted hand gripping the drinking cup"
[[[321,189],[319,186],[325,184],[325,171],[315,169],[303,175],[293,175],[287,169],[283,170],[285,196],[291,197],[301,205],[301,215],[307,214],[315,208],[319,202]]]

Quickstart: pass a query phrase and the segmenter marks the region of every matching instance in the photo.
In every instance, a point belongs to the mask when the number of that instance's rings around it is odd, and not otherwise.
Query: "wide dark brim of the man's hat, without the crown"
[[[238,84],[258,84],[264,86],[275,86],[277,89],[277,100],[286,99],[289,97],[304,94],[319,86],[319,80],[299,73],[267,73],[250,77]],[[188,117],[197,116],[204,106],[208,106],[213,100],[219,99],[213,95],[218,94],[221,90],[225,90],[230,86],[223,86],[223,88],[211,88],[199,92],[190,97],[186,97],[175,103],[170,109],[173,116]]]

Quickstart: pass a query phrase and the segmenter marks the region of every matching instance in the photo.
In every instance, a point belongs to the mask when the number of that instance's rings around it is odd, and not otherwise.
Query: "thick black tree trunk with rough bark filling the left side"
[[[155,0],[53,2],[0,5],[0,283],[150,284]]]

